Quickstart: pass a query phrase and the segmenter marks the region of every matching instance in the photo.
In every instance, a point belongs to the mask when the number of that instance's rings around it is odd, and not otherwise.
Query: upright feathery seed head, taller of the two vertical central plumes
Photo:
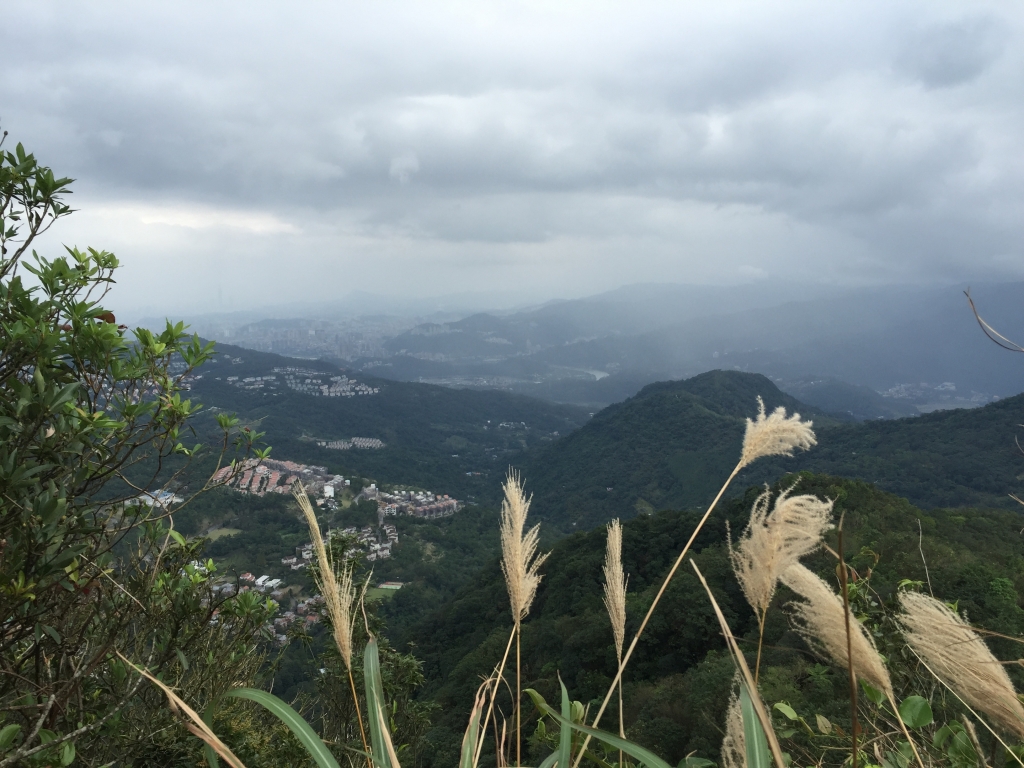
[[[550,553],[537,552],[540,523],[524,531],[532,497],[526,498],[519,473],[509,471],[502,489],[505,492],[501,521],[502,572],[509,591],[512,620],[518,627],[534,604],[537,588],[541,584],[538,569]]]

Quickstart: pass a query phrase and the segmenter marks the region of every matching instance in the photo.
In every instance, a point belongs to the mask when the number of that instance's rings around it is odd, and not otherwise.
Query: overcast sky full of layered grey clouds
[[[7,0],[136,311],[1024,279],[1024,5]],[[387,308],[387,307],[384,307]]]

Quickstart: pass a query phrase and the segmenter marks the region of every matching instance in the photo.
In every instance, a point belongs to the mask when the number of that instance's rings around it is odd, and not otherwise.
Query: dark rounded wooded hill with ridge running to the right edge
[[[759,463],[737,483],[806,468],[868,480],[924,507],[1005,506],[1007,494],[1021,486],[1014,425],[1024,422],[1024,395],[970,411],[844,423],[764,376],[713,371],[651,384],[557,443],[526,454],[521,467],[537,513],[572,530],[638,511],[706,505],[738,458],[758,395],[768,409],[783,406],[813,419],[818,446]]]

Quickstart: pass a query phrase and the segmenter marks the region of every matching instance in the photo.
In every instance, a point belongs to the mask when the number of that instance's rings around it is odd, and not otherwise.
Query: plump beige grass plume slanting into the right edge
[[[1024,707],[984,641],[941,601],[900,594],[900,623],[910,647],[943,683],[1009,733],[1024,736]]]

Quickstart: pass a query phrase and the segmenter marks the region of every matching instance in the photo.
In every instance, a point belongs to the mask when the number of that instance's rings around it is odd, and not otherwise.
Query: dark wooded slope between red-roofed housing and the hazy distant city
[[[281,384],[251,390],[228,382],[272,375],[274,368],[300,367],[337,376],[347,373],[377,388],[372,395],[322,397]],[[475,495],[494,488],[512,456],[570,432],[588,413],[496,390],[457,390],[386,381],[345,372],[321,360],[301,360],[217,345],[217,361],[203,370],[193,396],[209,412],[237,413],[266,432],[273,456],[343,469],[381,481],[443,493]],[[504,425],[504,426],[503,426]],[[201,424],[202,428],[202,424]],[[316,439],[383,440],[382,450],[333,451]],[[473,473],[467,475],[467,473]]]

